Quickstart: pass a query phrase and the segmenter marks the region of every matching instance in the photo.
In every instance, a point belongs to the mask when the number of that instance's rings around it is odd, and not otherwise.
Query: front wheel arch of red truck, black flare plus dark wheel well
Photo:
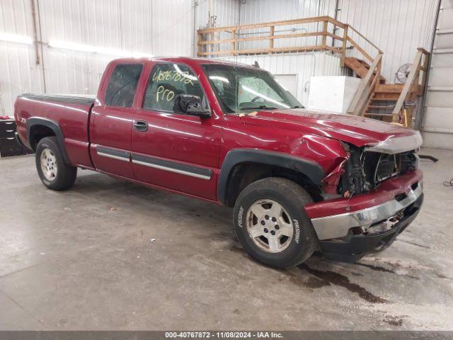
[[[217,197],[226,206],[234,206],[237,196],[245,186],[268,176],[291,179],[304,188],[316,188],[324,178],[323,168],[316,162],[290,154],[260,149],[234,149],[226,154],[217,183]],[[306,189],[310,189],[306,188]]]

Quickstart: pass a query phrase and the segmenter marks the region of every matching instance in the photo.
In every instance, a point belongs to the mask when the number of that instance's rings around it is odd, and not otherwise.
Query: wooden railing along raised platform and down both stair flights
[[[308,31],[308,28],[314,27],[316,27],[316,31]],[[280,30],[276,28],[280,28]],[[338,33],[338,29],[343,30],[343,34],[341,34],[341,31]],[[329,51],[340,55],[340,66],[344,67],[346,52],[352,47],[372,64],[366,77],[362,79],[350,108],[348,108],[348,113],[352,115],[363,115],[365,113],[367,104],[372,99],[373,91],[379,84],[379,79],[381,79],[384,52],[355,28],[341,23],[331,16],[205,28],[198,30],[197,33],[198,57]],[[306,42],[308,45],[301,45],[300,40],[289,40],[284,47],[275,46],[277,40],[287,41],[287,39],[294,38],[311,38],[311,40]],[[266,43],[266,41],[268,42]],[[244,44],[244,42],[247,43]],[[261,46],[256,48],[251,42],[260,42]],[[338,46],[336,42],[341,42],[341,45]],[[358,42],[362,42],[362,44]],[[350,47],[348,47],[348,43]],[[364,45],[371,48],[365,48]],[[374,55],[376,51],[377,56],[373,58],[371,55]]]

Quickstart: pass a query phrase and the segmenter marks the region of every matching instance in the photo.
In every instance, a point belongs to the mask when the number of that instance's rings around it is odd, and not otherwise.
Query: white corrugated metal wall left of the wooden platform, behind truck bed
[[[34,45],[0,41],[1,110],[11,115],[18,94],[44,92],[45,87],[47,93],[96,94],[105,65],[118,57],[47,45],[52,41],[150,55],[193,55],[193,3],[35,0],[40,64],[35,62]],[[31,8],[30,0],[1,0],[0,33],[33,37]]]

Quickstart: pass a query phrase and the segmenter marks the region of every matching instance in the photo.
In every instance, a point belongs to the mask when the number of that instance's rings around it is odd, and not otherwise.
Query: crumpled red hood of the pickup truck
[[[389,138],[411,137],[418,132],[401,126],[355,115],[341,115],[304,108],[258,111],[243,115],[246,124],[297,130],[309,135],[335,138],[357,147],[378,145]]]

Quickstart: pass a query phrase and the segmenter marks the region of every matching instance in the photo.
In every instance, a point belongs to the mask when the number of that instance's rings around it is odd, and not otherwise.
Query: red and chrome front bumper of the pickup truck
[[[323,253],[356,261],[391,244],[418,215],[423,203],[421,180],[421,172],[414,171],[355,198],[307,205]]]

